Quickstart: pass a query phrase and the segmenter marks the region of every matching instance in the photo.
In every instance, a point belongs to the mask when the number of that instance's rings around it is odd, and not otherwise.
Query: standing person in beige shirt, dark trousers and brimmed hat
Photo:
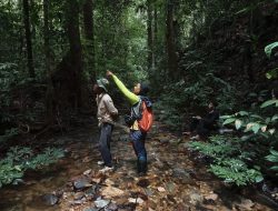
[[[107,93],[108,83],[107,79],[99,79],[93,86],[93,92],[97,94],[97,118],[100,128],[99,150],[102,157],[102,161],[98,161],[98,164],[105,165],[105,168],[100,170],[100,172],[103,173],[113,170],[110,152],[110,142],[113,130],[111,122],[113,122],[113,119],[118,115],[118,109],[116,109],[111,97]]]

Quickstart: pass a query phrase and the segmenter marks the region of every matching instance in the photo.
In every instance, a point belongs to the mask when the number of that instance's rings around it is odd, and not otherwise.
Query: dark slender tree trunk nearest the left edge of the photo
[[[30,78],[34,78],[36,74],[34,74],[34,68],[33,68],[32,41],[31,41],[30,14],[29,14],[28,0],[23,0],[23,19],[24,19],[24,30],[26,30],[28,71],[29,71]]]

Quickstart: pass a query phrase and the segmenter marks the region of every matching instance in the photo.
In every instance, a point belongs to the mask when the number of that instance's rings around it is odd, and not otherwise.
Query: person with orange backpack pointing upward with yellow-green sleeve
[[[152,124],[151,102],[146,97],[149,88],[145,83],[137,83],[133,92],[129,91],[126,86],[112,72],[107,71],[107,77],[111,77],[116,86],[123,93],[131,104],[131,114],[126,117],[126,123],[130,127],[130,138],[137,155],[137,170],[139,175],[147,173],[147,151],[145,141],[147,132]]]

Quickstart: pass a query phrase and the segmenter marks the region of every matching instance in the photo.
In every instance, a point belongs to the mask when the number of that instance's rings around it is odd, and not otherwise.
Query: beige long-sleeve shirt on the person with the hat
[[[99,125],[101,125],[103,122],[111,122],[113,121],[112,115],[118,114],[118,109],[113,105],[113,101],[111,97],[108,93],[101,93],[97,96],[97,105],[98,105],[98,120]]]

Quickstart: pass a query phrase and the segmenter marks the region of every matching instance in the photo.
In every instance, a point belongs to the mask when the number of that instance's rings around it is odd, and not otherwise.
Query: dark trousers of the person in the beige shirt
[[[112,135],[113,125],[103,123],[100,128],[99,137],[99,150],[105,162],[105,165],[112,167],[112,157],[110,152],[110,142]]]

